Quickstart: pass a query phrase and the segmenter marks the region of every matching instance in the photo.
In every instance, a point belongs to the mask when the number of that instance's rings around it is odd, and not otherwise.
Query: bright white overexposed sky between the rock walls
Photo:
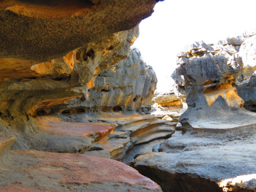
[[[140,23],[135,41],[158,78],[158,91],[170,90],[176,55],[194,41],[214,43],[256,29],[255,0],[165,0]]]

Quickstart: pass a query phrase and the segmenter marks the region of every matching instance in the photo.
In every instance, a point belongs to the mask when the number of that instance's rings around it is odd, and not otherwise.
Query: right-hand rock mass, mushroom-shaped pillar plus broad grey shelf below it
[[[256,114],[243,108],[238,95],[249,98],[254,86],[254,69],[246,64],[250,54],[245,60],[242,55],[249,40],[253,36],[216,45],[196,42],[178,54],[172,76],[186,91],[188,104],[180,116],[182,130],[161,143],[158,152],[130,162],[164,192],[256,191]],[[246,49],[255,56],[253,46]]]

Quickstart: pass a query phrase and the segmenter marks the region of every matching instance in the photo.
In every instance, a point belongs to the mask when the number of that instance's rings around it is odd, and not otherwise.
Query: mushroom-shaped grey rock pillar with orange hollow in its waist
[[[243,42],[240,37],[228,38],[215,46],[196,42],[178,54],[173,77],[177,84],[184,84],[186,91],[188,110],[180,117],[184,131],[227,130],[256,124],[255,114],[243,109],[244,100],[236,90],[236,80],[243,69],[242,58],[236,53]],[[232,120],[225,122],[228,117]]]

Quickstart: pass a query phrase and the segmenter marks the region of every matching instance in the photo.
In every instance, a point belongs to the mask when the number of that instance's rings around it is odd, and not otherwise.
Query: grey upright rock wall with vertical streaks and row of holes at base
[[[65,102],[63,107],[56,106],[46,111],[50,113],[119,112],[141,111],[154,96],[156,74],[151,66],[142,60],[140,52],[130,50],[128,58],[106,67],[94,76],[94,86],[80,98]],[[39,108],[38,110],[44,110]]]

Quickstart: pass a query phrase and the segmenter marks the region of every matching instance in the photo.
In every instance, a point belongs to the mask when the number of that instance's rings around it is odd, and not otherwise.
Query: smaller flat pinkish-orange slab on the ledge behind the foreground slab
[[[108,123],[74,123],[63,122],[54,116],[37,117],[41,130],[63,136],[93,137],[96,141],[104,138],[114,129]]]

